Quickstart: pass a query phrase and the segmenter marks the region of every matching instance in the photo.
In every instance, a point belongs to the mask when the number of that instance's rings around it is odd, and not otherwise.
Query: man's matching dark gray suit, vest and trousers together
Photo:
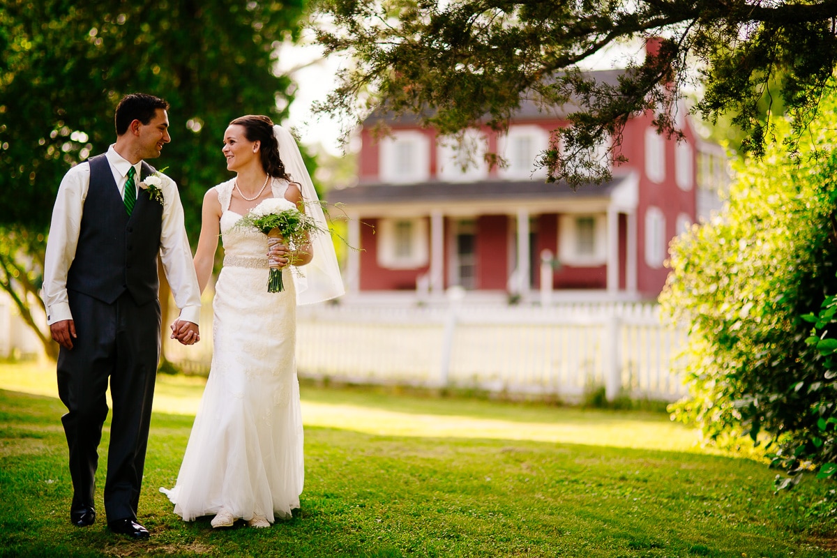
[[[67,275],[76,338],[61,348],[59,397],[73,479],[73,508],[93,506],[97,448],[108,407],[110,425],[105,513],[136,519],[145,467],[151,400],[160,355],[157,254],[162,204],[141,190],[131,217],[105,156],[91,157],[90,187],[79,242]],[[141,177],[152,171],[142,164]]]

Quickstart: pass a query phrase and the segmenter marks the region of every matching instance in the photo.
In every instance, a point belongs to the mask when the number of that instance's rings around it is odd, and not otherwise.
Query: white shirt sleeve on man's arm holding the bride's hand
[[[174,302],[180,309],[180,319],[200,323],[201,292],[198,275],[192,262],[192,248],[186,236],[183,206],[177,184],[169,178],[164,181],[162,234],[160,257],[166,279],[172,287]]]

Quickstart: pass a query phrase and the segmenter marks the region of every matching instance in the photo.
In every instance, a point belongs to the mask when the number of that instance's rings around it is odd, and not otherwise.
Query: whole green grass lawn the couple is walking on
[[[302,387],[306,489],[266,530],[182,522],[177,476],[203,382],[161,376],[140,520],[69,524],[54,369],[0,365],[0,556],[833,556],[806,516],[833,484],[710,453],[664,414]],[[24,393],[25,392],[25,393]],[[108,432],[100,450],[104,463]],[[100,469],[99,500],[104,484]]]

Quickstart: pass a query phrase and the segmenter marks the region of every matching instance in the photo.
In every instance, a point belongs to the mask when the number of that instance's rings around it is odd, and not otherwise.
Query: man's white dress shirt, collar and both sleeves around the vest
[[[111,145],[105,153],[110,171],[119,188],[125,192],[128,169],[131,163],[117,153]],[[135,187],[139,188],[141,162],[136,163]],[[90,164],[80,163],[67,171],[58,189],[52,223],[49,225],[46,256],[44,259],[44,304],[47,307],[47,323],[72,320],[67,299],[67,274],[75,258],[79,243],[81,214],[90,187]],[[201,294],[198,275],[192,264],[192,249],[184,228],[183,206],[172,179],[162,185],[162,233],[160,256],[166,278],[172,287],[174,302],[180,309],[180,319],[198,324],[201,310]]]

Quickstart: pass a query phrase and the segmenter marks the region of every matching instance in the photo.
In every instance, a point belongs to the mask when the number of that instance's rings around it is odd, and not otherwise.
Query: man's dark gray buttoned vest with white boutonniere
[[[79,243],[67,274],[67,289],[112,304],[126,290],[137,305],[157,299],[157,253],[162,203],[139,189],[131,217],[104,155],[90,157],[90,188]],[[142,162],[141,179],[154,169]]]

